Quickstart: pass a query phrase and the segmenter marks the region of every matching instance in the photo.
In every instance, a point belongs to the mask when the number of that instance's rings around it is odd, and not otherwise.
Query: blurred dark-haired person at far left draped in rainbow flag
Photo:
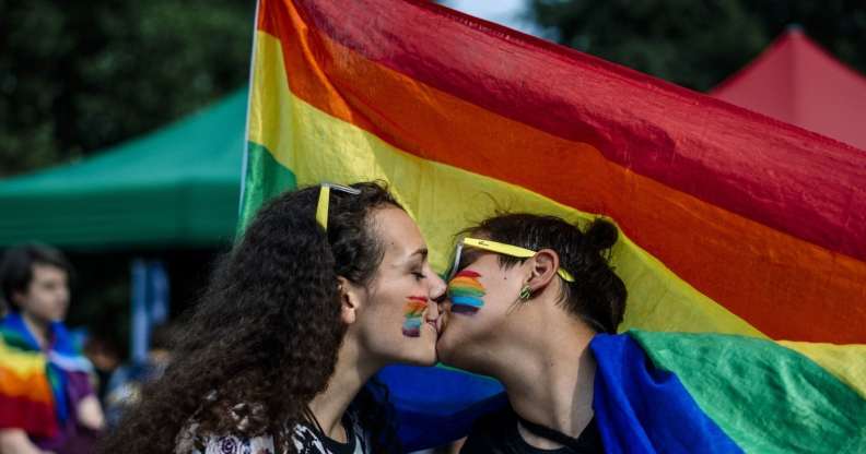
[[[93,366],[63,326],[71,267],[50,247],[9,249],[0,263],[0,453],[92,452],[104,425]]]

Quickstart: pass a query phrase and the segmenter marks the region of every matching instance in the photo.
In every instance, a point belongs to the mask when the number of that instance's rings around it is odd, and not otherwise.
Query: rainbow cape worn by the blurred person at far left
[[[45,353],[20,314],[0,321],[0,428],[52,439],[71,417],[69,374],[90,373],[92,366],[61,323],[51,324],[51,349]]]

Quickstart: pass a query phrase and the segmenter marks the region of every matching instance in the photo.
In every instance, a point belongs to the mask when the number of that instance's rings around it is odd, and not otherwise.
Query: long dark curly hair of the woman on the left
[[[368,285],[384,255],[372,213],[400,207],[382,183],[331,191],[327,232],[316,223],[319,187],[264,206],[221,260],[187,315],[165,374],[102,443],[103,453],[169,453],[191,422],[198,433],[271,434],[293,452],[286,429],[308,421],[308,403],[333,373],[346,333],[337,276]],[[365,389],[355,399],[365,427],[388,413]],[[387,398],[387,396],[385,397]],[[238,423],[243,420],[243,423]],[[393,433],[393,430],[390,430]],[[376,444],[394,444],[387,433]]]

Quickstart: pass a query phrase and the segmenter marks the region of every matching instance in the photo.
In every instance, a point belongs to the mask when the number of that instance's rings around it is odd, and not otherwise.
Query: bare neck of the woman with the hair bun
[[[533,351],[515,353],[512,366],[500,379],[514,410],[524,419],[577,438],[593,418],[593,383],[596,362],[588,348],[594,333],[562,326],[535,339]],[[517,358],[517,356],[522,358]],[[520,434],[529,444],[554,449],[559,444]]]

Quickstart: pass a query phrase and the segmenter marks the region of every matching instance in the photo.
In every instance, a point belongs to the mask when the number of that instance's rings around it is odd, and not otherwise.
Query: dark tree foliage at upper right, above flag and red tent
[[[531,0],[561,44],[690,88],[733,74],[792,24],[866,73],[859,0]]]

